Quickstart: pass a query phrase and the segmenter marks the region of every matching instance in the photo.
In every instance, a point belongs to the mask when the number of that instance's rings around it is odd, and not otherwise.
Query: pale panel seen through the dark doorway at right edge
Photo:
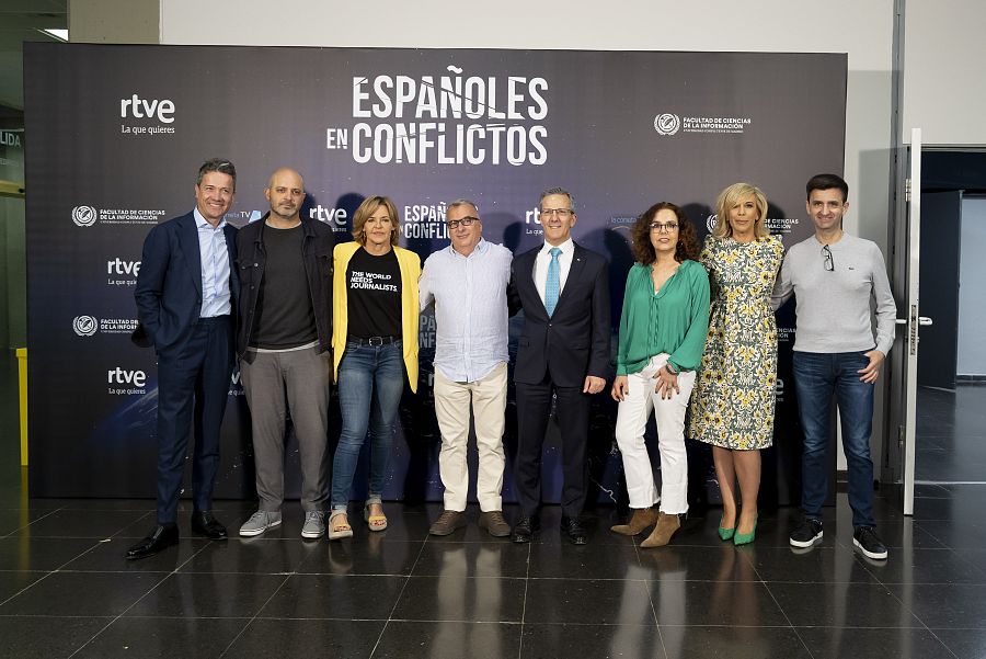
[[[986,198],[962,200],[959,264],[959,375],[986,376]]]

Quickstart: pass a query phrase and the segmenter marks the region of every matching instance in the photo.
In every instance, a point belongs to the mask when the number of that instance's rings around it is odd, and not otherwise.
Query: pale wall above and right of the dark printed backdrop
[[[592,10],[580,10],[582,4]],[[161,0],[161,43],[848,53],[846,180],[853,213],[846,226],[885,247],[893,4],[830,0],[824,13],[815,14],[790,0],[502,0],[484,5]],[[838,103],[841,91],[819,89],[818,102]]]

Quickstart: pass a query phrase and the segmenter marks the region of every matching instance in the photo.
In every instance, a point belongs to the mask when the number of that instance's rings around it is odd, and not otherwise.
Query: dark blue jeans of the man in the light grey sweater
[[[805,516],[822,519],[828,490],[825,474],[828,450],[829,405],[839,406],[842,448],[849,477],[849,505],[853,526],[874,526],[873,461],[870,434],[873,425],[873,385],[860,382],[859,371],[870,363],[861,352],[794,352],[794,387],[804,430],[801,462],[801,507]]]

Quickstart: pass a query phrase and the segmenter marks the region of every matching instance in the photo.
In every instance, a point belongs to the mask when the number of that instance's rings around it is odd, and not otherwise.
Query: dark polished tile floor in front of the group
[[[474,524],[427,535],[437,505],[388,504],[390,529],[302,542],[301,513],[257,538],[128,563],[149,501],[26,500],[0,484],[0,657],[983,657],[986,486],[921,486],[913,519],[876,500],[890,560],[853,552],[845,495],[824,541],[793,552],[795,511],[754,545],[718,539],[716,511],[662,549],[588,514],[587,546],[558,509],[530,545]],[[231,530],[249,502],[217,503]],[[516,511],[508,510],[513,515]],[[354,519],[356,515],[354,515]]]

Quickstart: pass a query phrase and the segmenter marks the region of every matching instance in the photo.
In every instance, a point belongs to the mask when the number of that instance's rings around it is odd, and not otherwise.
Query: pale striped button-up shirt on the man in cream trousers
[[[483,239],[468,257],[448,246],[425,260],[420,303],[435,303],[435,368],[448,379],[475,382],[507,361],[512,260],[511,250]]]

